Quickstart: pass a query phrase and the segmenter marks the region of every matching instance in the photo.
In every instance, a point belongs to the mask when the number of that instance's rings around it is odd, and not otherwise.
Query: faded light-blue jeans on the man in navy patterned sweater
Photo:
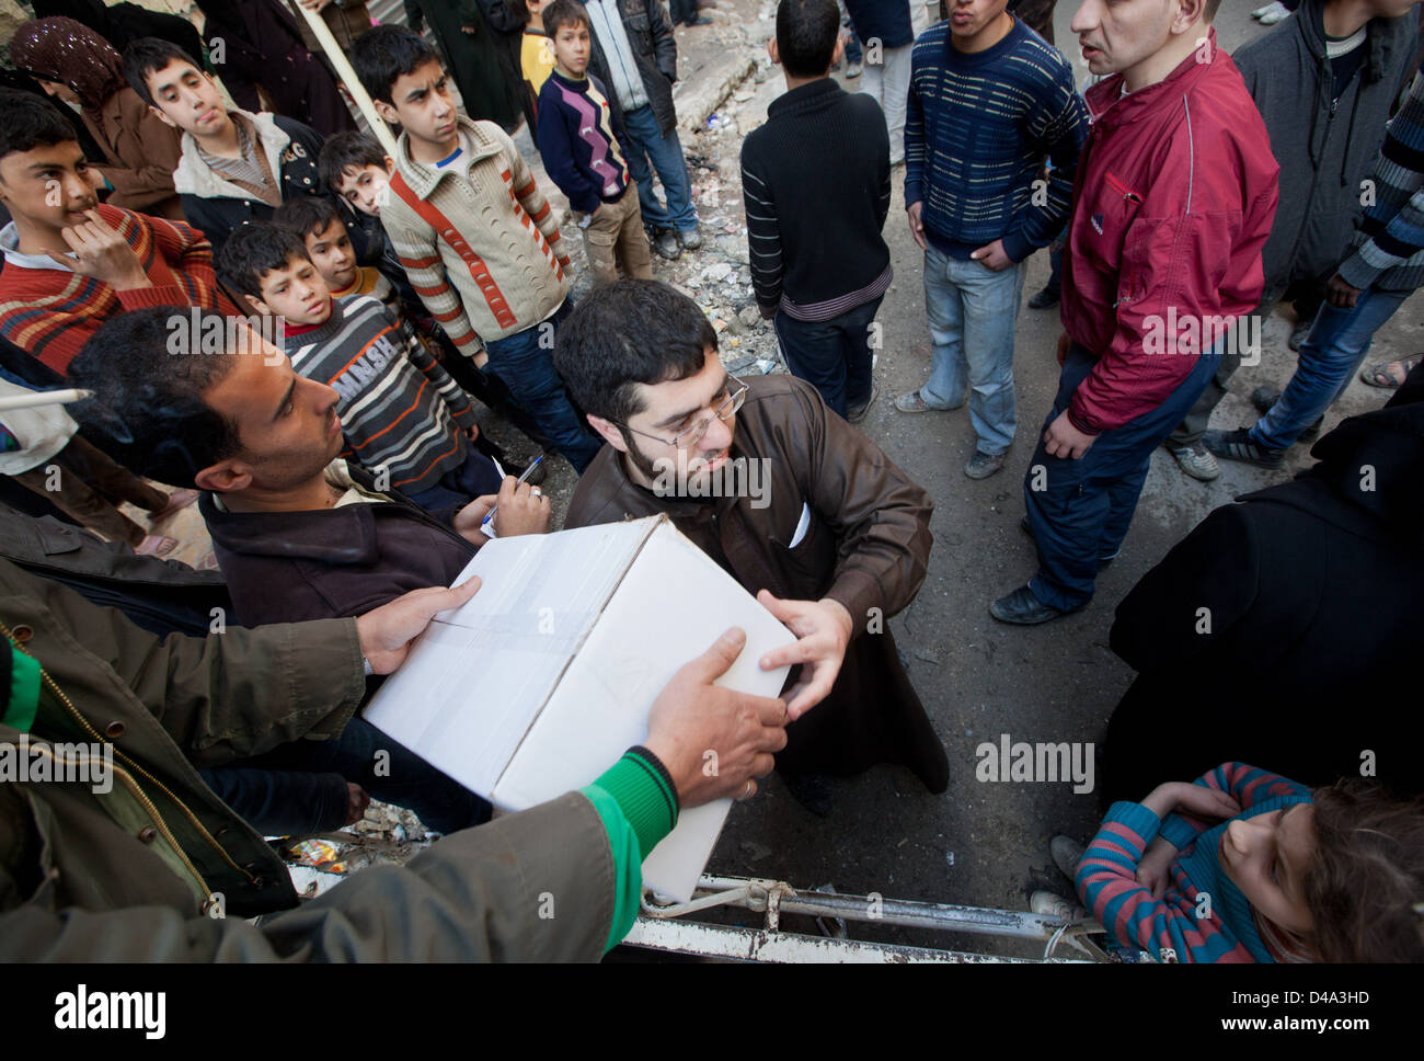
[[[1024,293],[1024,263],[1002,272],[924,252],[924,309],[933,363],[920,387],[931,409],[958,409],[970,389],[970,423],[978,451],[991,457],[1014,441],[1014,320]]]

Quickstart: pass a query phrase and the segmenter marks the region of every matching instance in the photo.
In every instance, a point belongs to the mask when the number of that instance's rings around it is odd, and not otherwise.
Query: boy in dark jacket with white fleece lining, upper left
[[[266,221],[298,195],[322,191],[322,135],[279,114],[228,110],[212,74],[158,37],[124,50],[124,75],[165,124],[182,132],[174,188],[188,222],[221,248],[248,221]]]

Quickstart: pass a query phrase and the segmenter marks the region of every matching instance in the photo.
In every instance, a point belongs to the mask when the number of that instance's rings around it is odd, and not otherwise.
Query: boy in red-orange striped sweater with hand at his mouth
[[[202,232],[100,204],[74,128],[28,93],[0,90],[0,335],[57,373],[105,319],[142,306],[234,313]]]

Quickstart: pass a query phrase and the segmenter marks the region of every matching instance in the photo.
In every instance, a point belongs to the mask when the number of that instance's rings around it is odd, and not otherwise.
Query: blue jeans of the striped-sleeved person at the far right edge
[[[1250,429],[1252,441],[1283,450],[1324,416],[1370,353],[1374,333],[1411,293],[1366,288],[1353,309],[1337,309],[1329,302],[1321,305],[1310,335],[1300,343],[1296,375],[1280,393],[1280,400]]]

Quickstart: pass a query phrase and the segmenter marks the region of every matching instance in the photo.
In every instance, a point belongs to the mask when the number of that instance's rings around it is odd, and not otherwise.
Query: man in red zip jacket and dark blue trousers
[[[1219,0],[1084,0],[1087,94],[1064,269],[1062,375],[1024,477],[1038,573],[990,605],[1032,625],[1087,607],[1148,461],[1260,299],[1279,167],[1216,46]]]

